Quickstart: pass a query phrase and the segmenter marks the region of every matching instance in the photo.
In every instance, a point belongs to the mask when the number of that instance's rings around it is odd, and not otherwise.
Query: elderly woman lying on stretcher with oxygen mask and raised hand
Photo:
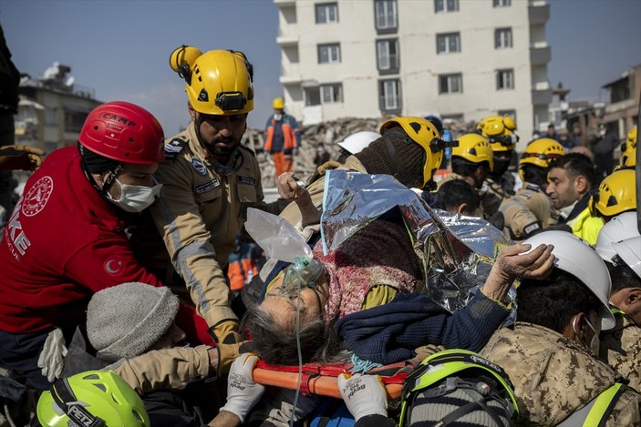
[[[543,278],[553,247],[501,250],[484,285],[453,314],[416,290],[425,278],[398,211],[370,222],[324,254],[284,269],[264,300],[248,310],[243,330],[265,362],[332,361],[352,351],[364,361],[394,363],[426,344],[479,351],[509,314],[504,300],[516,278]]]

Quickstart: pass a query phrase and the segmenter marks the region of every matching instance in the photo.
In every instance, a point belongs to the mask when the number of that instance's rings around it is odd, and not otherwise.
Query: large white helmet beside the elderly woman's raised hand
[[[535,234],[530,239],[524,240],[523,244],[532,245],[532,249],[541,244],[554,245],[552,250],[554,267],[572,274],[601,300],[603,304],[599,310],[601,330],[611,330],[615,327],[615,316],[610,311],[608,302],[612,287],[610,273],[605,267],[604,260],[585,240],[567,231],[551,230]]]

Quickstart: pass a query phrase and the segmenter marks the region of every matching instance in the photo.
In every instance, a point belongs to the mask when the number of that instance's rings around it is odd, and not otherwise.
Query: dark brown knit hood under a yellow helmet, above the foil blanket
[[[393,147],[390,152],[388,142]],[[387,174],[407,186],[410,180],[423,180],[425,150],[414,142],[402,127],[388,129],[382,137],[373,141],[363,151],[354,155],[368,174]]]

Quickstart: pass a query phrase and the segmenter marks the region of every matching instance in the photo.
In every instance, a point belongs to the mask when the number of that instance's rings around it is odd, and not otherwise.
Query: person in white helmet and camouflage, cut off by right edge
[[[641,236],[636,213],[605,224],[596,242],[612,278],[610,304],[616,326],[601,332],[600,357],[641,390]]]

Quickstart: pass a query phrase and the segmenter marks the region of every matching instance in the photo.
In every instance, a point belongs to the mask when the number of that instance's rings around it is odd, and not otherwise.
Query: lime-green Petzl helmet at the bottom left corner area
[[[86,371],[61,379],[37,402],[45,427],[150,427],[140,396],[113,371]]]

